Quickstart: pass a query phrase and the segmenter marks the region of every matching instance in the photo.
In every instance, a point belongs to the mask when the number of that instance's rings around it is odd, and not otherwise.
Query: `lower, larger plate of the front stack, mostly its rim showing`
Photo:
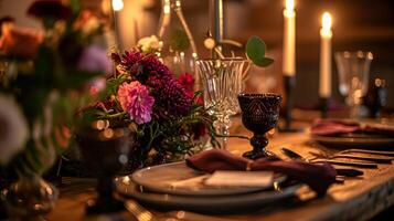
[[[126,179],[126,181],[125,181]],[[283,203],[295,196],[299,185],[281,190],[265,190],[243,194],[225,196],[181,196],[149,192],[132,182],[129,177],[116,179],[117,190],[125,197],[131,197],[140,203],[160,210],[189,210],[202,213],[234,213],[246,212],[263,207]]]

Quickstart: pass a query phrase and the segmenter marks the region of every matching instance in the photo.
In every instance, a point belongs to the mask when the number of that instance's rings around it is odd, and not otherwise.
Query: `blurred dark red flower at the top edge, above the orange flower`
[[[28,9],[28,14],[39,19],[67,19],[72,10],[60,0],[36,0]]]

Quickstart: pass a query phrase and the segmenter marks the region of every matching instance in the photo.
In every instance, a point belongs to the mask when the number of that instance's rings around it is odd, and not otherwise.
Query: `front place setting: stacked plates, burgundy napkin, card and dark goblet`
[[[251,139],[253,150],[236,157],[225,149],[212,149],[185,161],[140,169],[116,178],[117,191],[161,210],[203,213],[245,212],[278,203],[296,197],[301,183],[323,196],[336,181],[333,167],[283,161],[265,149],[265,134],[278,122],[281,97],[239,94],[238,99],[242,122],[255,133]]]

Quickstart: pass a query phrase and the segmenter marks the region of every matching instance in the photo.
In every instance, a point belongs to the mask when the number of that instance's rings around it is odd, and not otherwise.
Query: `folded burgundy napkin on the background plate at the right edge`
[[[339,135],[348,133],[373,133],[394,135],[394,126],[377,123],[360,123],[350,119],[317,119],[311,127],[312,135]]]

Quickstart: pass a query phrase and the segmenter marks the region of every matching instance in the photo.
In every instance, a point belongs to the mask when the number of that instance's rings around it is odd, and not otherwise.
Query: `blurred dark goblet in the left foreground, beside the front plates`
[[[136,136],[127,127],[104,130],[85,129],[77,135],[86,167],[96,175],[98,199],[87,206],[88,213],[107,213],[125,210],[114,198],[114,176],[128,162],[128,154],[136,145]]]

